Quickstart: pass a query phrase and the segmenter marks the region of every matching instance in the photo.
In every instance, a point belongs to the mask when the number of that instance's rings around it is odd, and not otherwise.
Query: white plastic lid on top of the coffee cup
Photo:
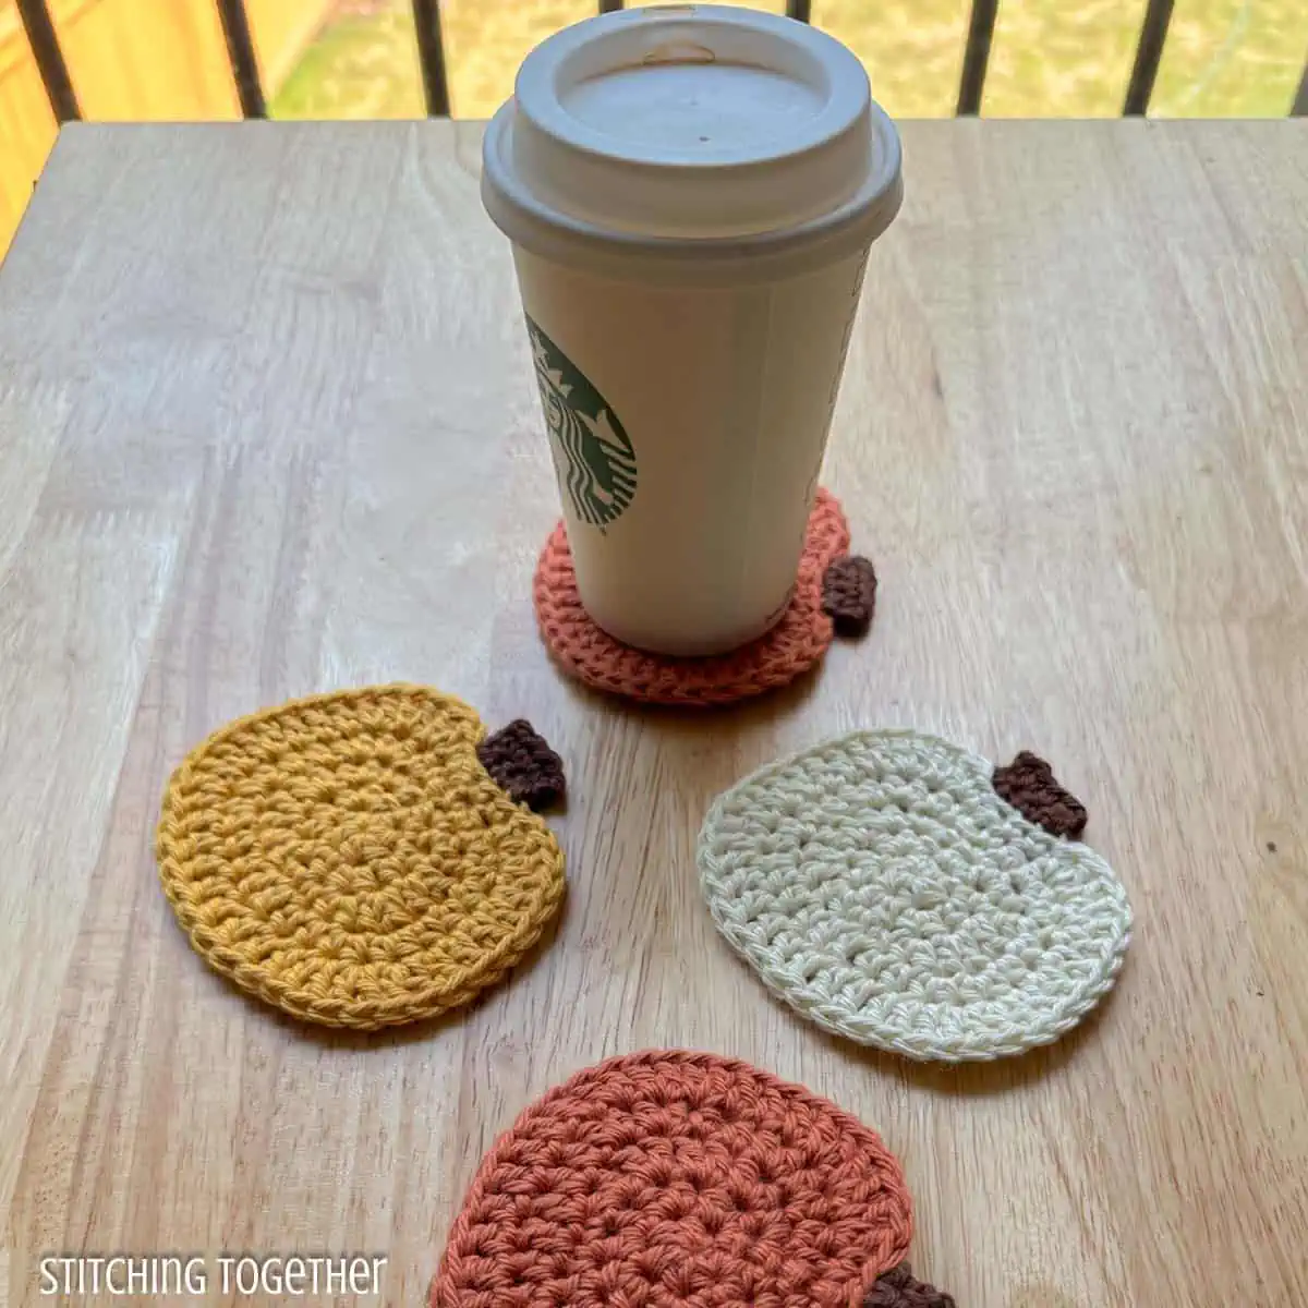
[[[624,9],[548,38],[483,165],[494,222],[564,262],[866,245],[903,199],[899,135],[858,59],[807,24],[722,5]]]

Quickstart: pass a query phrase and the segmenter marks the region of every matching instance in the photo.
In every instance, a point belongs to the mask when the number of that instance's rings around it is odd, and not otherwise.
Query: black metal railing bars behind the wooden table
[[[600,13],[612,13],[623,8],[623,0],[598,0],[598,3]],[[245,0],[215,0],[215,4],[222,21],[222,35],[226,41],[232,78],[241,101],[241,112],[246,118],[266,118],[267,105],[259,80],[259,61],[255,58],[254,41],[250,35],[250,20],[246,14]],[[433,118],[447,118],[450,85],[445,71],[445,41],[441,35],[441,0],[412,0],[412,4],[426,111]],[[1168,25],[1172,21],[1172,4],[1173,0],[1148,0],[1144,21],[1141,24],[1139,39],[1135,43],[1131,80],[1122,105],[1125,116],[1148,112],[1154,82],[1163,60],[1163,47],[1167,43]],[[59,48],[59,34],[50,17],[47,0],[17,0],[17,5],[55,118],[60,123],[80,118],[77,95],[72,78],[68,76],[63,51]],[[981,98],[985,93],[985,75],[990,63],[990,42],[994,37],[998,8],[998,0],[972,0],[968,42],[963,54],[963,75],[959,78],[957,112],[960,115],[981,112]],[[799,22],[808,22],[811,10],[811,0],[786,0],[786,13]],[[1304,64],[1303,80],[1290,107],[1290,114],[1308,116],[1308,61]]]

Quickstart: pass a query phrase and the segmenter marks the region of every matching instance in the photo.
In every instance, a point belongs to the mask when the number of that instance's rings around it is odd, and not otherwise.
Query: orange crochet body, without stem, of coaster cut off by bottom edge
[[[650,1050],[501,1137],[430,1308],[852,1308],[910,1236],[900,1165],[855,1118],[748,1063]]]

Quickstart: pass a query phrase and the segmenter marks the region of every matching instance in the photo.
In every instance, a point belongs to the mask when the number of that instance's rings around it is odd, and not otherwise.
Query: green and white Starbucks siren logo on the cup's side
[[[531,318],[527,334],[560,489],[582,522],[603,530],[636,494],[636,451],[604,396]]]

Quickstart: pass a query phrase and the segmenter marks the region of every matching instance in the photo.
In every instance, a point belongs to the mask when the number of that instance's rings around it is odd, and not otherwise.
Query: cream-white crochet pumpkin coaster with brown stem
[[[935,736],[862,731],[719,795],[700,876],[731,946],[820,1027],[909,1058],[997,1058],[1057,1040],[1122,965],[1125,889],[1053,833],[1083,827],[1033,755],[993,769]]]

